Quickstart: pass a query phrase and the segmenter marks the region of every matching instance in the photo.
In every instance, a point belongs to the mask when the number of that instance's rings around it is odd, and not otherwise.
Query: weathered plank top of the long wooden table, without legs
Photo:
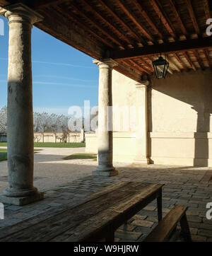
[[[130,206],[136,206],[138,202],[145,201],[146,197],[150,198],[162,186],[141,182],[119,182],[95,193],[83,204],[66,209],[61,213],[57,212],[49,219],[15,231],[11,235],[1,237],[0,240],[81,240],[89,233],[98,233],[100,226],[102,226],[102,231],[104,228],[107,229],[108,223],[114,218],[119,216],[120,219],[120,216]]]

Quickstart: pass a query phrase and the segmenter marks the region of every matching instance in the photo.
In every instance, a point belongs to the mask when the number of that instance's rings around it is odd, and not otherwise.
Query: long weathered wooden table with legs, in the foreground
[[[78,202],[0,230],[0,241],[106,241],[114,231],[157,199],[162,219],[162,184],[118,182]]]

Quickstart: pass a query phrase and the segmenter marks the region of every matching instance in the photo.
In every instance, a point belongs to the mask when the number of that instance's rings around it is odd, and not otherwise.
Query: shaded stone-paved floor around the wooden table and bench
[[[71,205],[93,192],[102,190],[120,180],[164,183],[163,216],[175,204],[189,206],[187,219],[194,241],[212,242],[212,219],[206,219],[206,204],[212,202],[212,182],[210,168],[171,167],[165,165],[129,165],[117,168],[119,175],[100,178],[88,175],[45,192],[45,199],[27,206],[7,205],[5,220],[0,220],[1,228],[18,223],[37,214]],[[156,202],[148,204],[129,223],[115,233],[116,241],[142,241],[157,223]],[[178,240],[180,240],[178,238]]]

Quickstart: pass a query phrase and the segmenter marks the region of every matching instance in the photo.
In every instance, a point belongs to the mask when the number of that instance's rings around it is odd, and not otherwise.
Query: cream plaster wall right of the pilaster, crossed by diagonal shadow
[[[212,72],[153,79],[148,91],[152,163],[212,166]]]

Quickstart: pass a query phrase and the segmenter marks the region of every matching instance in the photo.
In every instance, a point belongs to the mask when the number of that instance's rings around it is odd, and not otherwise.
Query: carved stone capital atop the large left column
[[[43,20],[39,13],[21,3],[0,7],[0,16],[6,17],[9,22],[21,22],[27,19],[34,24]]]

